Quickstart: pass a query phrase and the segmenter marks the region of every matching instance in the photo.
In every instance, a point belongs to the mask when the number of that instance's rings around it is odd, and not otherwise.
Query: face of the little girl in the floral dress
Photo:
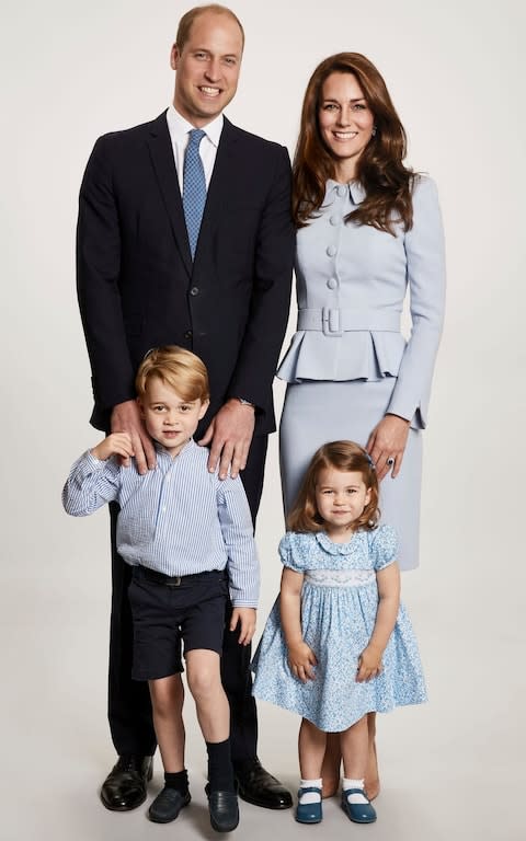
[[[316,483],[316,507],[330,538],[343,538],[370,500],[358,471],[323,468]]]

